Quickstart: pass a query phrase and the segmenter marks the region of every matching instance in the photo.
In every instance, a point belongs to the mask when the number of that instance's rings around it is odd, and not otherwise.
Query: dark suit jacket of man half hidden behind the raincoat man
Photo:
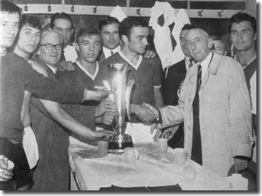
[[[182,60],[168,68],[167,77],[165,78],[167,69],[165,69],[162,93],[165,105],[177,105],[177,90],[180,83],[185,79],[187,74],[186,62]],[[184,148],[184,123],[181,123],[174,134],[173,138],[168,141],[171,148]]]

